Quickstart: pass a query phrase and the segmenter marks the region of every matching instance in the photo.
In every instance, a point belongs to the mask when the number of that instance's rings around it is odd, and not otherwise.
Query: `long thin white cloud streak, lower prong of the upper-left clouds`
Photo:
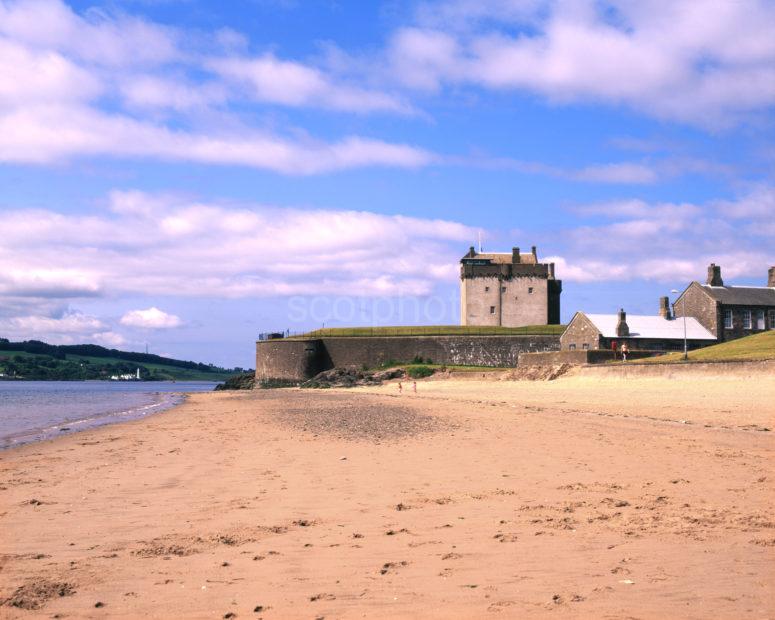
[[[350,136],[335,143],[240,133],[174,131],[84,106],[26,106],[0,113],[0,162],[50,163],[76,156],[150,157],[241,165],[285,174],[317,174],[363,166],[417,168],[428,151]]]

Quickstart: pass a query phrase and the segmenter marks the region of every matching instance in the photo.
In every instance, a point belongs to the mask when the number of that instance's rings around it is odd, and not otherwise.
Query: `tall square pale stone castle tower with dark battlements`
[[[522,254],[480,253],[460,259],[460,324],[521,327],[558,325],[562,282],[536,248]]]

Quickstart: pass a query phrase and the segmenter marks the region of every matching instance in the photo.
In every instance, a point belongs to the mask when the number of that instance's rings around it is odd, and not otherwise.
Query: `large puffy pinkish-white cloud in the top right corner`
[[[394,75],[412,87],[523,90],[714,125],[775,104],[775,6],[763,0],[434,8],[390,45]]]

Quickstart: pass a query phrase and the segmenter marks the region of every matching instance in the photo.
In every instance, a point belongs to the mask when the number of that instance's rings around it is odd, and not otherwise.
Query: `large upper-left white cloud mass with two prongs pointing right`
[[[290,128],[285,137],[257,128],[255,110],[240,122],[234,108],[245,101],[411,110],[311,65],[224,57],[220,44],[184,34],[123,13],[79,14],[60,0],[0,0],[0,162],[109,156],[319,174],[434,161],[423,149],[359,135],[322,141]]]

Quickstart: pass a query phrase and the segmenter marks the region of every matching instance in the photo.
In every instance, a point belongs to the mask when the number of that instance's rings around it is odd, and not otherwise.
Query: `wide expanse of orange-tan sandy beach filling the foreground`
[[[771,374],[404,385],[0,452],[0,617],[775,617]]]

